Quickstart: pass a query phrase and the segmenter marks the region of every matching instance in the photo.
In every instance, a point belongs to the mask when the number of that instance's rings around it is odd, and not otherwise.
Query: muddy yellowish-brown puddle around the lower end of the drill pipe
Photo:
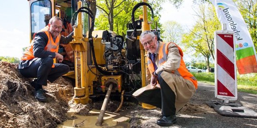
[[[96,126],[96,122],[100,113],[100,110],[91,110],[87,115],[78,115],[74,109],[70,109],[67,112],[69,120],[58,125],[58,128],[101,128],[101,127],[129,127],[129,123],[126,121],[130,118],[117,113],[105,112],[102,126]]]

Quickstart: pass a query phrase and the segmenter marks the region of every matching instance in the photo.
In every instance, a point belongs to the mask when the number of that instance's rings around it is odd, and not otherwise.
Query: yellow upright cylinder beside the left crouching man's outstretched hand
[[[78,2],[78,8],[80,8],[82,2]],[[86,85],[86,66],[87,66],[87,42],[82,35],[81,13],[78,13],[78,24],[74,27],[74,36],[70,45],[75,51],[75,81],[76,87],[74,88],[74,102],[76,104],[86,104],[89,99],[89,88]]]

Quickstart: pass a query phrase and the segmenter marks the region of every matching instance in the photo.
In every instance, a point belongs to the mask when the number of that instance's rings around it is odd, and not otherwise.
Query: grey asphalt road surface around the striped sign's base
[[[178,114],[178,123],[170,127],[257,127],[257,119],[223,116],[208,107],[206,101],[219,100],[215,98],[214,91],[214,86],[198,83],[198,89],[190,103],[199,104],[204,112]],[[257,112],[256,94],[238,92],[236,103]]]

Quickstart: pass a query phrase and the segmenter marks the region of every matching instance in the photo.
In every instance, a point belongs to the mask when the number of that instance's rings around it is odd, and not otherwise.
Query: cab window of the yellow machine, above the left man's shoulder
[[[38,32],[48,25],[51,16],[51,1],[41,0],[31,4],[31,39],[35,32]]]

